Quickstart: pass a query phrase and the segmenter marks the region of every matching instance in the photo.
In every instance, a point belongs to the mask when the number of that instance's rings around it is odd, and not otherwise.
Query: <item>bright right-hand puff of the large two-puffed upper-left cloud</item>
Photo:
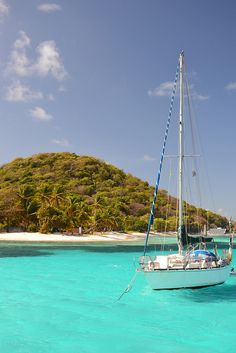
[[[38,58],[33,71],[39,76],[51,74],[57,80],[62,80],[67,75],[62,63],[56,43],[53,40],[45,41],[39,44],[36,49]]]

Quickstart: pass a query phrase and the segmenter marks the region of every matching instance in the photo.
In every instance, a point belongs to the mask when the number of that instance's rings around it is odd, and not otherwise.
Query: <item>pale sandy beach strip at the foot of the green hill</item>
[[[134,241],[140,239],[143,234],[133,233],[104,233],[95,235],[65,235],[65,234],[41,234],[41,233],[0,233],[0,242],[46,242],[46,243],[81,243],[81,242],[117,242]]]

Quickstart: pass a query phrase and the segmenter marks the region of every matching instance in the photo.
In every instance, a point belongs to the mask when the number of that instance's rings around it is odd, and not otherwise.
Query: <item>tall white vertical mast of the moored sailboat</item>
[[[184,52],[180,53],[179,57],[179,90],[180,90],[180,103],[179,103],[179,230],[178,230],[178,245],[179,252],[182,252],[182,226],[183,226],[183,61]]]

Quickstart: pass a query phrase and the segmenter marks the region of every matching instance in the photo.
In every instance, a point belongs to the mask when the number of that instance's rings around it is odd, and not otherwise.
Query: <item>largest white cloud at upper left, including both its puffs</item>
[[[15,41],[7,65],[7,72],[20,77],[51,75],[60,81],[67,72],[60,57],[59,50],[53,40],[42,42],[36,48],[36,59],[30,60],[26,49],[30,46],[30,38],[20,31]]]

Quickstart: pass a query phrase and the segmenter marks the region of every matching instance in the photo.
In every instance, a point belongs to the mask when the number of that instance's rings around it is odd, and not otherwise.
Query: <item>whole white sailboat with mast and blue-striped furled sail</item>
[[[183,134],[184,134],[184,88],[183,88],[183,67],[184,52],[180,53],[177,73],[175,76],[174,88],[171,98],[171,107],[168,115],[165,138],[160,159],[160,167],[158,171],[157,181],[154,191],[154,199],[152,203],[146,241],[143,256],[139,258],[139,271],[144,273],[146,280],[152,289],[179,289],[179,288],[196,288],[212,286],[224,283],[230,275],[230,263],[232,259],[232,237],[230,238],[229,250],[225,256],[218,256],[215,250],[207,250],[206,243],[203,243],[202,236],[192,238],[187,234],[183,217],[183,161],[185,158],[183,151]],[[154,220],[154,207],[158,194],[163,158],[165,154],[166,141],[172,114],[174,94],[179,80],[180,105],[179,105],[179,166],[178,166],[178,229],[177,244],[178,253],[169,255],[147,254],[147,246],[151,226]],[[193,244],[192,240],[195,240]]]

